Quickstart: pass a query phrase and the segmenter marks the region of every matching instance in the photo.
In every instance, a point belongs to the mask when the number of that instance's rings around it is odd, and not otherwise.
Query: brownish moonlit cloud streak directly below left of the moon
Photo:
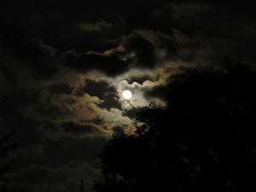
[[[102,131],[118,125],[124,128],[132,125],[133,120],[123,116],[121,110],[101,108],[100,103],[102,100],[87,93],[84,96],[49,95],[42,101],[20,105],[20,113],[29,119],[55,124],[74,122],[89,125],[94,122],[94,127]]]

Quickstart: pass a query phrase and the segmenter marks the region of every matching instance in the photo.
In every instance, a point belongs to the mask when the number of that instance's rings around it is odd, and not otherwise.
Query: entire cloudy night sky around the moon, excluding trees
[[[81,179],[91,191],[104,145],[132,134],[140,108],[166,106],[158,88],[172,75],[226,58],[255,67],[255,18],[244,1],[3,1],[0,134],[18,143],[9,191],[76,192]]]

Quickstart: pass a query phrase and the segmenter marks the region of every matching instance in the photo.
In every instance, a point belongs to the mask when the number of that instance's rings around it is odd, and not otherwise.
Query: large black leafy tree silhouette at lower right
[[[167,107],[137,114],[137,134],[103,149],[105,191],[256,191],[256,75],[227,61],[188,69],[164,90]]]

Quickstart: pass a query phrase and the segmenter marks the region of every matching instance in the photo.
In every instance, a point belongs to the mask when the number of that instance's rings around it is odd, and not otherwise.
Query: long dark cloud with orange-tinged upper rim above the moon
[[[79,73],[99,70],[117,76],[131,68],[149,69],[166,61],[186,61],[202,64],[212,61],[215,49],[206,39],[189,38],[178,30],[172,35],[152,30],[137,30],[122,38],[115,49],[100,52],[76,53],[69,50],[62,54],[63,63]]]

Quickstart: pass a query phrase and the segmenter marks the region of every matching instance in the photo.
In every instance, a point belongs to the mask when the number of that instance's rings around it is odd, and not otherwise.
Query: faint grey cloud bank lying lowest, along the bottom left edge
[[[56,192],[79,191],[80,180],[84,179],[84,189],[90,191],[92,178],[99,172],[90,166],[82,168],[70,168],[61,166],[50,168],[40,165],[28,166],[19,172],[9,174],[9,178],[15,179],[15,183],[8,186],[9,191],[40,191],[54,190]]]

